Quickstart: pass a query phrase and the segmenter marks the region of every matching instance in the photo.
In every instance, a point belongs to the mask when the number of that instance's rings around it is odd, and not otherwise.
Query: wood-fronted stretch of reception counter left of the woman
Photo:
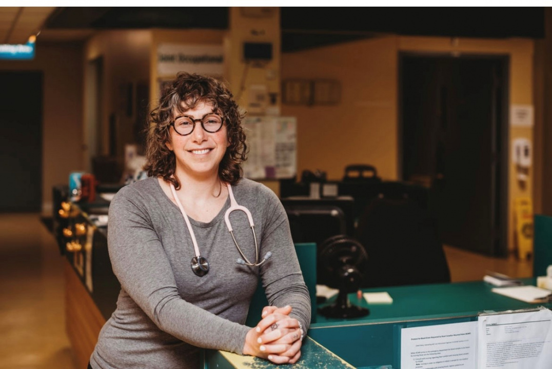
[[[86,368],[100,329],[115,310],[120,284],[107,249],[107,227],[100,226],[109,202],[73,204],[67,186],[56,186],[52,231],[65,258],[66,331],[78,367]]]

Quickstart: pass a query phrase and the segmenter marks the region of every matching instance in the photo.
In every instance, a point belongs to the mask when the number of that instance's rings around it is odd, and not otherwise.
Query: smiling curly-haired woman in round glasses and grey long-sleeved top
[[[200,347],[299,359],[309,293],[278,197],[241,178],[242,118],[213,78],[179,73],[163,92],[147,137],[149,177],[109,207],[121,291],[89,367],[196,369]],[[227,213],[231,206],[240,210]],[[250,328],[259,276],[270,306]]]

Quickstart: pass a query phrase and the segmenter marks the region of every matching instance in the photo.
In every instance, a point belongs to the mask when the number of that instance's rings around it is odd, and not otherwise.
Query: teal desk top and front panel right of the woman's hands
[[[524,282],[534,285],[535,279],[526,279]],[[539,306],[539,304],[529,304],[498,295],[491,292],[491,288],[482,281],[368,288],[364,291],[389,292],[393,303],[368,305],[363,300],[361,306],[370,309],[370,315],[363,318],[329,319],[317,315],[308,335],[354,367],[396,369],[400,365],[402,328],[469,322],[477,320],[477,314],[482,311],[505,311]],[[349,299],[353,303],[358,303],[355,294],[349,295]],[[550,303],[541,305],[552,307]],[[308,360],[309,357],[304,359]],[[255,360],[254,365],[251,361],[246,367],[267,369],[277,367],[266,361]],[[298,367],[309,367],[308,362],[302,362],[301,365]],[[224,366],[220,367],[224,368]],[[235,366],[230,366],[230,368],[233,367]],[[342,366],[342,368],[346,367]]]

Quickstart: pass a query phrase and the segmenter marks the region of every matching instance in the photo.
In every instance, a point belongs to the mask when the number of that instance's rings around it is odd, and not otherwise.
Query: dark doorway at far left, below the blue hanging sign
[[[41,72],[0,72],[0,212],[42,205]]]

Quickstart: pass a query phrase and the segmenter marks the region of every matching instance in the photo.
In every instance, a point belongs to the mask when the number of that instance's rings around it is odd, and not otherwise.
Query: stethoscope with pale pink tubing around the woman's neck
[[[257,244],[257,236],[255,236],[255,229],[253,224],[253,217],[251,216],[251,212],[245,207],[238,205],[236,202],[236,199],[234,198],[234,194],[232,192],[232,186],[230,184],[226,184],[228,188],[228,194],[230,195],[230,207],[228,210],[226,210],[224,214],[224,221],[226,222],[226,228],[230,231],[230,234],[232,235],[232,239],[234,240],[234,244],[236,245],[236,248],[238,249],[238,252],[240,252],[241,258],[238,258],[236,260],[236,263],[240,265],[248,265],[248,266],[259,266],[262,265],[265,261],[267,261],[270,256],[272,256],[271,252],[268,252],[264,254],[263,260],[259,263],[259,246]],[[176,189],[174,189],[174,185],[171,183],[171,191],[174,196],[174,200],[176,201],[176,204],[178,205],[178,208],[182,212],[182,216],[184,217],[184,221],[186,222],[186,226],[188,226],[188,231],[190,232],[190,236],[192,237],[192,244],[194,245],[194,252],[195,256],[192,258],[192,270],[195,273],[195,275],[199,277],[203,277],[205,274],[209,272],[209,262],[207,259],[204,258],[204,256],[201,256],[199,253],[199,247],[198,242],[195,239],[194,230],[192,229],[192,224],[190,224],[190,220],[188,219],[188,215],[186,215],[186,212],[184,211],[184,207],[182,207],[182,204],[180,200],[178,199],[178,196],[176,194]],[[247,219],[249,220],[249,226],[251,227],[251,232],[253,232],[253,239],[255,240],[255,262],[251,263],[246,256],[243,254],[240,246],[238,245],[236,241],[236,237],[234,237],[232,224],[230,223],[230,213],[235,210],[241,210],[247,215]]]

